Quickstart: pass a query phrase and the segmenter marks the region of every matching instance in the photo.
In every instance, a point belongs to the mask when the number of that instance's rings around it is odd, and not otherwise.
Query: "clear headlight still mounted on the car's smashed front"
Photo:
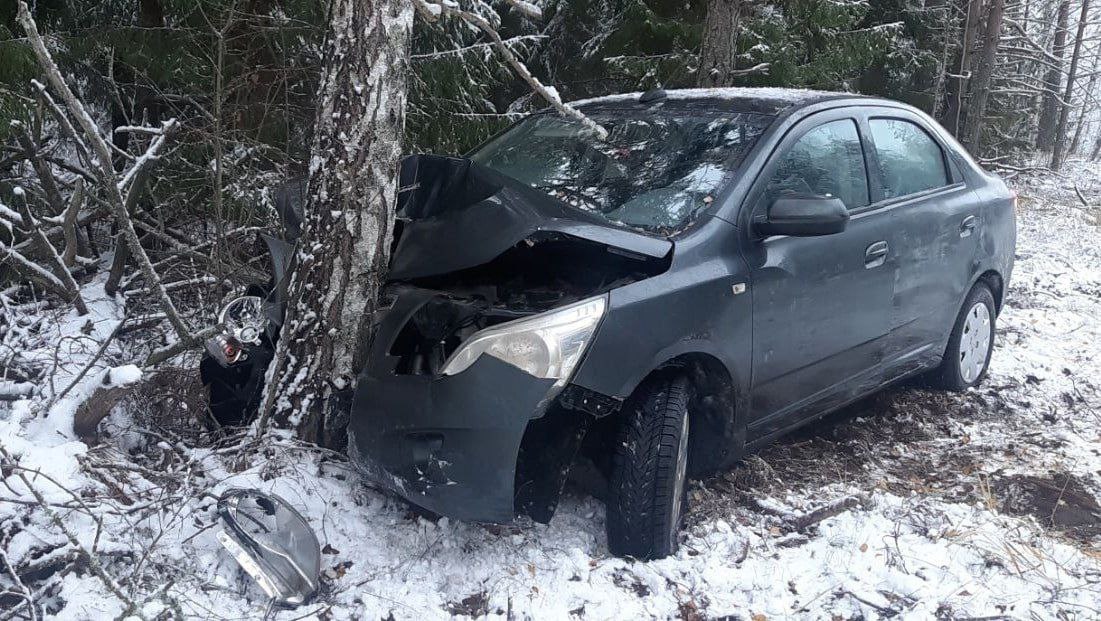
[[[461,373],[486,353],[536,378],[565,381],[581,360],[606,307],[601,295],[479,330],[451,355],[443,373]]]

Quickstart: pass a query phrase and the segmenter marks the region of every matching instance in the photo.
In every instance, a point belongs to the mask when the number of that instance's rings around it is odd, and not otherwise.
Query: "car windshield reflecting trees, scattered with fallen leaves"
[[[673,235],[708,208],[772,117],[720,111],[591,115],[597,140],[571,119],[536,115],[471,160],[610,224]]]

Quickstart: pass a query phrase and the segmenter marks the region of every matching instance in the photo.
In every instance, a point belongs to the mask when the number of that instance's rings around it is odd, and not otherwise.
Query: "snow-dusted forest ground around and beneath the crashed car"
[[[324,546],[320,596],[276,619],[1101,618],[1101,210],[1072,189],[1101,203],[1099,174],[1014,184],[1016,272],[981,388],[897,388],[695,482],[680,551],[663,560],[609,556],[602,504],[574,488],[546,526],[430,521],[290,439],[199,446],[151,422],[187,420],[187,399],[165,397],[186,388],[178,377],[117,407],[95,448],[64,435],[65,400],[32,422],[41,403],[0,404],[0,447],[19,464],[0,473],[0,619],[29,618],[28,595],[57,619],[115,618],[124,599],[145,618],[261,617],[215,538],[230,487],[292,501]],[[35,329],[101,339],[121,315],[94,299],[102,325]],[[58,370],[58,385],[73,379]]]

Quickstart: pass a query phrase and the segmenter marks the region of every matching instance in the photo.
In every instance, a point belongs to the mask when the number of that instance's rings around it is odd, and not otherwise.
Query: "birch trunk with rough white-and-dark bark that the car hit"
[[[286,319],[260,425],[340,446],[393,229],[413,4],[331,0]]]

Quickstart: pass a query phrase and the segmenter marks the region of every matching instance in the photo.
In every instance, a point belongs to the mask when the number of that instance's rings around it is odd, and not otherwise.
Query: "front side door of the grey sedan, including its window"
[[[838,197],[850,214],[840,233],[745,244],[753,295],[751,438],[851,401],[879,372],[896,263],[890,214],[872,207],[879,197],[866,174],[868,146],[854,112],[813,115],[785,137],[750,192],[752,220],[785,193]]]

